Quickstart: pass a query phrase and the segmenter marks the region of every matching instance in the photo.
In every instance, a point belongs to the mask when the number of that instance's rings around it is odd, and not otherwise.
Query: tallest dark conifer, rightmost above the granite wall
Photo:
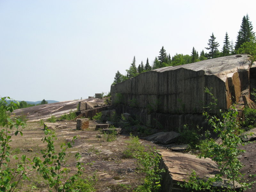
[[[249,21],[249,16],[247,14],[246,17],[244,16],[242,19],[242,24],[236,37],[235,50],[238,50],[243,43],[255,39],[255,32],[253,32],[252,29],[252,22]]]

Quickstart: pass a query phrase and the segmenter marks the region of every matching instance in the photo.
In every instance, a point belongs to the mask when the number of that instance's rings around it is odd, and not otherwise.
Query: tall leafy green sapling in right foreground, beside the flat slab
[[[221,110],[220,110],[221,112]],[[216,116],[210,116],[207,112],[203,114],[208,123],[212,125],[213,131],[219,133],[218,137],[222,140],[221,144],[217,144],[213,139],[204,140],[199,149],[201,157],[209,157],[215,161],[220,169],[220,176],[225,175],[230,184],[228,188],[235,191],[235,183],[239,183],[242,189],[250,187],[249,183],[242,180],[240,169],[242,163],[238,160],[237,156],[244,152],[238,148],[243,143],[239,137],[239,122],[237,121],[238,112],[235,107],[229,109],[225,113],[221,113],[221,119]]]

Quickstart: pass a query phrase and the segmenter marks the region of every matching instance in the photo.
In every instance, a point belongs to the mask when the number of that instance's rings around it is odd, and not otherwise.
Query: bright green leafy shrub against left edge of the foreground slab
[[[153,151],[139,152],[135,156],[140,172],[146,174],[144,184],[138,186],[135,192],[157,192],[161,188],[161,173],[164,169],[159,169],[161,156],[154,148]]]

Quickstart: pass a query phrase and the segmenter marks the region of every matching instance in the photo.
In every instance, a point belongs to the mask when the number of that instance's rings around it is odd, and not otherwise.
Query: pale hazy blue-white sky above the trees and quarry
[[[164,46],[200,53],[214,34],[236,42],[255,0],[0,0],[0,96],[15,100],[87,99],[109,92],[117,70]],[[204,49],[204,51],[207,51]]]

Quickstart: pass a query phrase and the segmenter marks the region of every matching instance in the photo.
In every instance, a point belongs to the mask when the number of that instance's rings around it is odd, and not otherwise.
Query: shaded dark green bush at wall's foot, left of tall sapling
[[[190,148],[196,148],[196,146],[200,143],[203,135],[200,134],[200,128],[198,125],[190,125],[185,124],[183,129],[179,128],[180,138],[179,141],[184,144],[188,144]]]

